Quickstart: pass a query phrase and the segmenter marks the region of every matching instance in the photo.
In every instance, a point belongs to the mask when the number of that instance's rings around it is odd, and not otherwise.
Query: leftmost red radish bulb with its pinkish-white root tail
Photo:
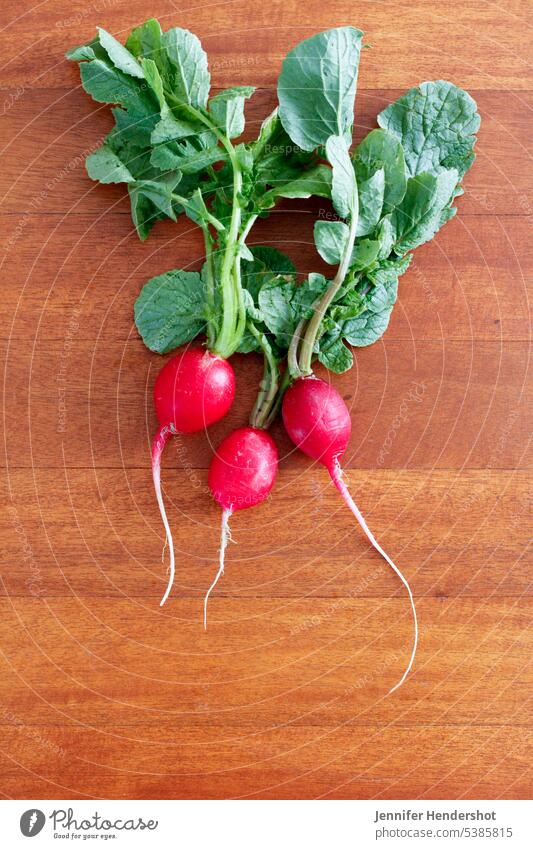
[[[152,477],[169,547],[169,578],[161,605],[174,581],[174,546],[161,493],[161,454],[169,436],[195,433],[223,418],[235,396],[235,375],[227,360],[202,348],[188,348],[163,366],[154,386],[159,430],[152,443]]]

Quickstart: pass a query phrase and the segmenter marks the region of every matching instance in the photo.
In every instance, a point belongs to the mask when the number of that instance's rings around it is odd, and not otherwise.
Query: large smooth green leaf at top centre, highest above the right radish
[[[315,150],[330,136],[349,144],[363,33],[339,27],[291,50],[278,80],[279,115],[292,141]]]

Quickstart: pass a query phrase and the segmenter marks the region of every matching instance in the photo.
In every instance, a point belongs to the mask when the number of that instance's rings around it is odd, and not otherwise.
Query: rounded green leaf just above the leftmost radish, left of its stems
[[[141,289],[134,307],[144,344],[166,354],[205,328],[205,289],[196,271],[167,271]]]

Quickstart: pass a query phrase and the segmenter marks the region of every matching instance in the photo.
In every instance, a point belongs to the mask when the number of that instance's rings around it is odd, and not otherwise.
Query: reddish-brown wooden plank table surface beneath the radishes
[[[2,3],[5,797],[532,792],[527,4],[356,6],[357,17],[353,3],[323,0]],[[247,417],[255,357],[237,362],[229,420],[167,452],[178,578],[159,607],[149,439],[161,360],[139,341],[132,305],[147,277],[199,267],[202,246],[187,219],[141,244],[121,188],[89,181],[83,158],[110,116],[63,59],[97,24],[123,39],[149,14],[201,37],[216,87],[259,87],[251,131],[286,51],[347,23],[372,45],[359,136],[425,79],[478,102],[457,218],[417,251],[383,340],[336,381],[353,414],[351,487],[417,599],[416,667],[392,696],[410,650],[403,588],[279,425],[279,481],[235,516],[238,545],[203,631],[219,534],[206,468],[212,443]],[[318,209],[287,202],[252,243],[316,270]]]

